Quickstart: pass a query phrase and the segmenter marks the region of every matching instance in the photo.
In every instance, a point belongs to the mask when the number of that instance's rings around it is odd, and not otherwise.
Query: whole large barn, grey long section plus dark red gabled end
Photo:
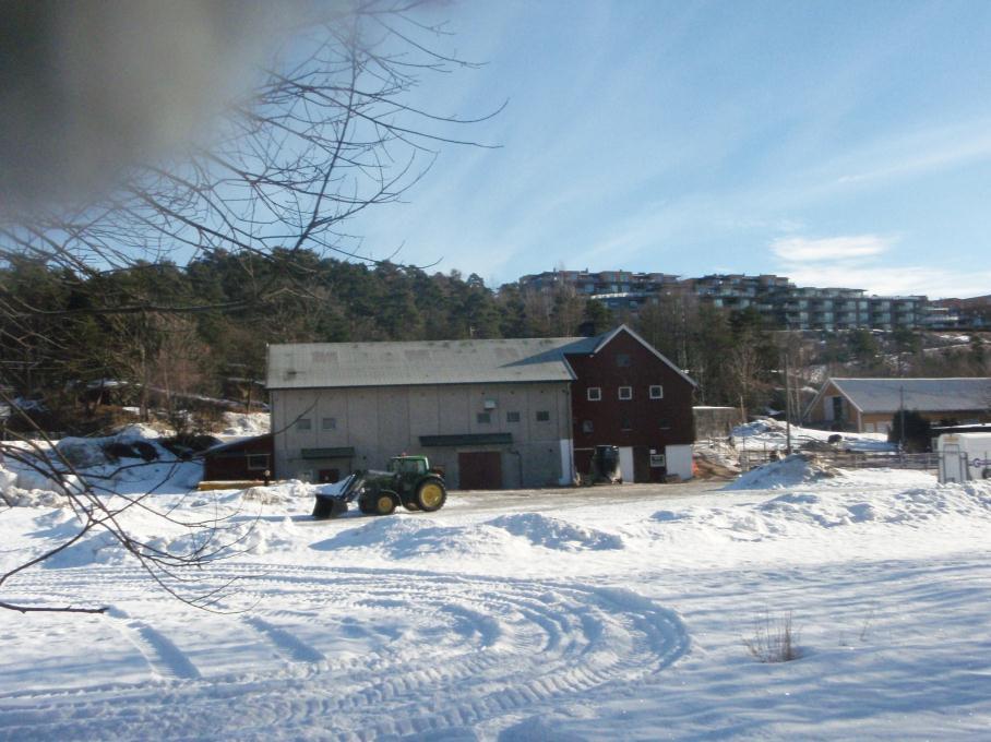
[[[625,326],[273,345],[267,387],[279,478],[334,481],[405,452],[427,454],[457,489],[560,486],[598,444],[620,446],[629,481],[691,476],[694,384]]]

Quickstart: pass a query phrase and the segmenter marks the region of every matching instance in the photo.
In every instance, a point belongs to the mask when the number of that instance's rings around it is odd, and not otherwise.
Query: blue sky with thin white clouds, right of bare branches
[[[991,2],[463,2],[417,103],[457,132],[374,256],[991,294]]]

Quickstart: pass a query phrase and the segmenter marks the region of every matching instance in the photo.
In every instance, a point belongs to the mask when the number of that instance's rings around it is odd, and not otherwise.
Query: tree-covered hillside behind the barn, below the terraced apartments
[[[831,373],[984,375],[991,360],[979,335],[940,348],[934,336],[906,331],[787,333],[755,311],[688,297],[613,316],[566,288],[491,289],[475,274],[306,249],[264,258],[216,249],[186,266],[148,262],[85,276],[13,260],[0,267],[0,300],[4,394],[43,408],[47,429],[83,433],[108,423],[106,403],[127,403],[147,419],[152,408],[168,416],[211,406],[200,397],[242,408],[263,402],[271,343],[554,337],[626,322],[692,375],[699,404],[745,414],[784,409],[786,352],[796,390]],[[9,424],[17,429],[16,416]]]

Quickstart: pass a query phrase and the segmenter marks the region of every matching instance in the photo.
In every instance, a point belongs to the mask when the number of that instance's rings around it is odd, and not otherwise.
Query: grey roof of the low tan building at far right
[[[893,412],[902,405],[920,412],[953,412],[991,407],[991,379],[832,379],[861,412]]]

